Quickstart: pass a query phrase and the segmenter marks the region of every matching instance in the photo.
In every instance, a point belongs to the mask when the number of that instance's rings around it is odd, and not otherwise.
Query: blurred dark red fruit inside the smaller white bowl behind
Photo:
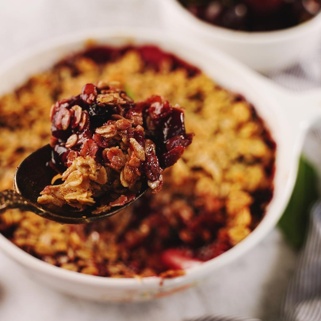
[[[243,31],[286,29],[320,12],[321,0],[178,0],[214,25]]]

